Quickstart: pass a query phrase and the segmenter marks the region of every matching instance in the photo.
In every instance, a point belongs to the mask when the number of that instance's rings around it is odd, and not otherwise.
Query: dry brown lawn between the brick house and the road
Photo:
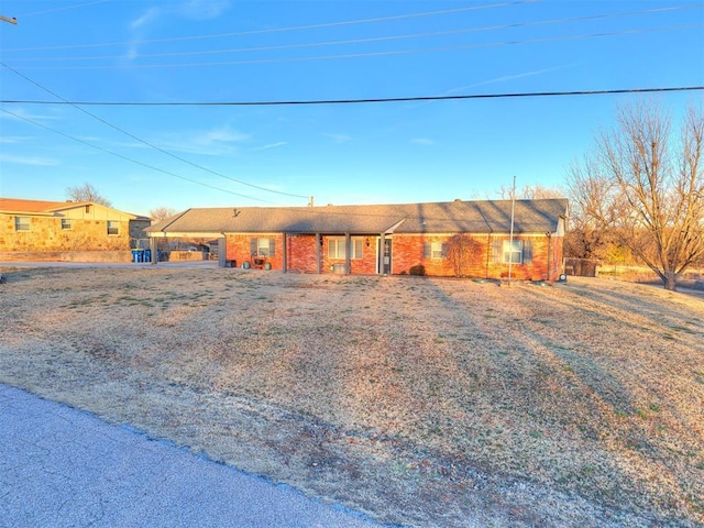
[[[10,270],[0,382],[407,526],[702,526],[704,297]]]

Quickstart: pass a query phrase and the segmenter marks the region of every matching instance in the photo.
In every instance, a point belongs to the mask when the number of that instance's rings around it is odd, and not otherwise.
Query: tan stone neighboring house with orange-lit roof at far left
[[[151,219],[84,201],[0,198],[0,252],[124,251],[144,239]]]

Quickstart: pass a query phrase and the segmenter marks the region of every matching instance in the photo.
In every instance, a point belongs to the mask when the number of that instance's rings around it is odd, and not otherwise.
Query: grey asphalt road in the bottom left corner
[[[0,384],[0,527],[378,526]]]

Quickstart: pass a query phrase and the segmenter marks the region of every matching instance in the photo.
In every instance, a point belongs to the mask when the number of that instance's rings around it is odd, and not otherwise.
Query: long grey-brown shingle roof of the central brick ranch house
[[[516,200],[514,231],[554,232],[568,200]],[[147,232],[164,233],[502,233],[510,230],[510,200],[381,206],[233,207],[188,209]]]

